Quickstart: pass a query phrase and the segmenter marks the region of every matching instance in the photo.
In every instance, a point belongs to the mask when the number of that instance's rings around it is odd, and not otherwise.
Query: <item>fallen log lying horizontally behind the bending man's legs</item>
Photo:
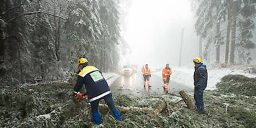
[[[141,108],[141,107],[121,107],[121,106],[117,106],[117,109],[119,109],[119,111],[121,111],[123,113],[129,112],[129,111],[143,111],[145,113],[153,113],[155,115],[158,115],[159,113],[165,111],[166,108],[167,108],[167,103],[166,102],[162,102],[159,105],[159,107],[157,107],[156,109]],[[99,104],[99,110],[109,110],[109,107],[107,105]]]

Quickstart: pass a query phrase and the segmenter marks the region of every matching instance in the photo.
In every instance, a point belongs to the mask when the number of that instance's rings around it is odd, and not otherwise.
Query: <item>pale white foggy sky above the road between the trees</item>
[[[133,0],[123,35],[131,54],[123,64],[149,63],[149,67],[178,65],[181,29],[185,27],[182,64],[193,65],[198,55],[198,39],[194,32],[189,0]],[[190,64],[191,63],[191,64]]]

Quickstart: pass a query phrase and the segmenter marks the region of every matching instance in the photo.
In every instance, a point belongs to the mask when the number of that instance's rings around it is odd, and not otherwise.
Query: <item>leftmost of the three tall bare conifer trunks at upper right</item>
[[[221,3],[221,0],[217,1],[217,5],[216,5],[216,9],[217,9],[217,16],[219,15],[219,3]],[[216,35],[217,35],[217,41],[215,41],[216,43],[216,61],[219,63],[219,49],[220,49],[220,44],[219,44],[219,37],[221,35],[220,31],[219,31],[219,27],[221,25],[221,21],[219,21],[219,19],[217,19],[217,25],[216,25]]]

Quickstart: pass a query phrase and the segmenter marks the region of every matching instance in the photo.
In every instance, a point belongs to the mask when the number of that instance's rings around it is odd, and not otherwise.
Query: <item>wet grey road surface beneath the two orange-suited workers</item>
[[[155,93],[161,94],[163,91],[163,81],[159,75],[151,75],[151,89],[148,87],[143,87],[143,76],[141,73],[134,73],[131,76],[123,76],[121,75],[117,78],[116,81],[111,85],[111,91],[116,94],[126,94],[130,96],[149,96]],[[177,83],[175,81],[170,81],[169,84],[169,92],[171,91],[193,91],[193,88],[183,85],[181,83]]]

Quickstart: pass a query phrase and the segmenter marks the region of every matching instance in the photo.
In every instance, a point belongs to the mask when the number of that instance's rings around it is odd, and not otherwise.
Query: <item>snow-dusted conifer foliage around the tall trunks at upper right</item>
[[[251,41],[252,30],[255,28],[253,21],[255,2],[251,0],[199,1],[195,15],[197,18],[195,30],[197,35],[204,39],[203,46],[199,47],[202,47],[205,59],[209,57],[207,55],[209,45],[214,42],[216,61],[219,62],[220,56],[224,55],[225,63],[234,65],[236,57],[243,58],[243,61],[237,63],[249,63],[251,60],[249,49],[255,48],[255,43]],[[223,39],[225,39],[225,53],[220,53]]]

